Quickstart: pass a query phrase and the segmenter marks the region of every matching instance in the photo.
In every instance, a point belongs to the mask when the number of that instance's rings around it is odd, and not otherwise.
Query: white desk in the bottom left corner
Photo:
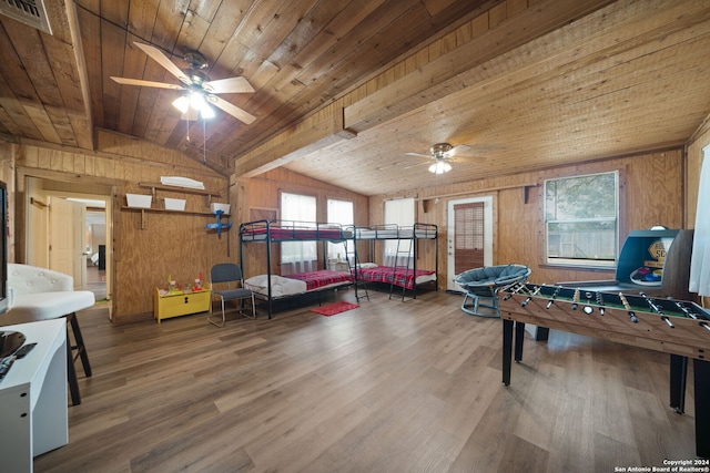
[[[2,317],[2,316],[0,316]],[[2,471],[31,472],[32,459],[69,442],[67,320],[0,327],[37,347],[16,360],[0,381]]]

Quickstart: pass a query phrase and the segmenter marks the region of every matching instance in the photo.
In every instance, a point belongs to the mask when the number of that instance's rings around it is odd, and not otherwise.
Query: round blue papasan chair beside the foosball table
[[[456,278],[456,284],[466,290],[462,310],[471,316],[500,317],[498,291],[525,282],[530,273],[530,268],[523,265],[484,266],[462,273]],[[493,310],[481,311],[481,307]]]

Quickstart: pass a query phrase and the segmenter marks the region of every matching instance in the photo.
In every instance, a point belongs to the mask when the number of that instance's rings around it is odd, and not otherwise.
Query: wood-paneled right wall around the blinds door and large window
[[[683,152],[659,151],[635,156],[613,157],[574,166],[561,166],[538,173],[517,174],[447,186],[432,186],[406,195],[371,197],[369,222],[383,222],[384,200],[416,197],[417,220],[439,227],[439,288],[446,288],[447,206],[450,199],[494,196],[494,265],[519,263],[532,268],[534,282],[559,280],[608,279],[613,271],[559,270],[545,265],[542,183],[547,178],[619,171],[620,206],[625,216],[621,243],[631,229],[652,225],[682,228],[683,223]],[[437,200],[438,198],[438,200]],[[420,268],[434,268],[433,251],[420,248]]]

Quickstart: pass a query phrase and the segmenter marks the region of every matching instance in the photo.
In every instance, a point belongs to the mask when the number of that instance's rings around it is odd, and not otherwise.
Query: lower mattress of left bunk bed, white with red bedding
[[[331,270],[298,273],[288,276],[271,275],[271,297],[280,298],[315,292],[347,286],[352,282],[353,277],[349,274]],[[267,275],[253,276],[244,280],[244,287],[258,296],[268,297]]]

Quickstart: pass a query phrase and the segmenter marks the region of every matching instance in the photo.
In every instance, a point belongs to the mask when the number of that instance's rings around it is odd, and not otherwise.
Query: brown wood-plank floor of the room
[[[83,311],[93,377],[70,443],[34,469],[597,473],[696,457],[692,390],[684,415],[668,407],[668,356],[552,331],[506,388],[500,320],[446,292],[387,297],[224,329]]]

